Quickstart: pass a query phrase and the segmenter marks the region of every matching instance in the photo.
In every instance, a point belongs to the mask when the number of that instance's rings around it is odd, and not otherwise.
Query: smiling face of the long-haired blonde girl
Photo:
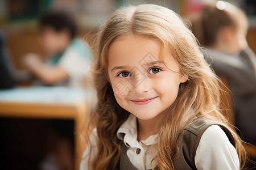
[[[122,36],[109,47],[108,75],[115,99],[141,120],[170,107],[179,84],[187,81],[170,53],[162,53],[165,65],[160,61],[161,49],[159,41],[135,35]]]

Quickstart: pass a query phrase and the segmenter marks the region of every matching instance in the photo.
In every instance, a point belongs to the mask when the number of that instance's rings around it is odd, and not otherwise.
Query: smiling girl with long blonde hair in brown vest
[[[175,12],[123,7],[94,40],[98,103],[80,169],[243,167],[242,141],[221,114],[221,82]]]

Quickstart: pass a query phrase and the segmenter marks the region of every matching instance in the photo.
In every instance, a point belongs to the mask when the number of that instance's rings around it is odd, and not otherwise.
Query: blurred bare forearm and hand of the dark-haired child
[[[47,66],[36,54],[27,54],[23,62],[28,70],[46,84],[54,84],[68,79],[68,74],[64,69],[59,66]]]

